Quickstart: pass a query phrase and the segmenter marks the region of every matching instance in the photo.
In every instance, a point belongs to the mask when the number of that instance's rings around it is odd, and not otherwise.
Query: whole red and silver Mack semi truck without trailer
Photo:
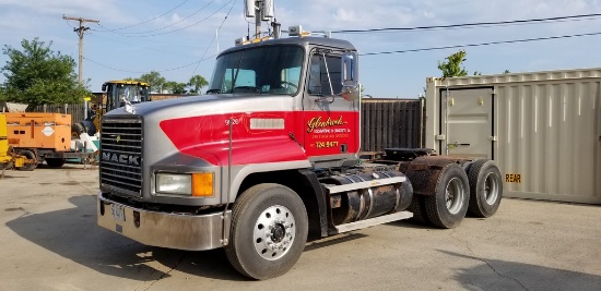
[[[288,32],[221,52],[207,95],[103,117],[101,227],[146,245],[224,247],[236,270],[262,280],[288,271],[307,240],[495,214],[493,160],[426,148],[362,159],[357,50]]]

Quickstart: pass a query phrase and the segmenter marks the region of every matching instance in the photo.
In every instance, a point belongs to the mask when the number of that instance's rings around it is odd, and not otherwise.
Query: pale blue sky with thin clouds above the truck
[[[304,31],[419,27],[505,22],[601,13],[601,0],[274,0],[283,29]],[[219,51],[254,33],[244,0],[0,0],[0,45],[21,49],[23,39],[51,43],[54,51],[78,60],[76,21],[85,23],[83,77],[92,92],[105,81],[157,71],[186,83],[195,74],[211,78]],[[267,23],[263,23],[267,31]],[[219,33],[217,33],[219,31]],[[369,54],[459,45],[601,33],[601,16],[538,24],[478,26],[384,33],[333,33],[360,51],[365,94],[416,98],[437,64],[461,48]],[[285,34],[284,34],[285,35]],[[287,35],[286,35],[287,37]],[[601,34],[553,40],[466,47],[469,74],[483,75],[601,66]],[[0,66],[8,61],[0,54]],[[76,71],[75,71],[76,72]],[[5,77],[0,76],[0,83]],[[207,89],[207,88],[204,88]]]

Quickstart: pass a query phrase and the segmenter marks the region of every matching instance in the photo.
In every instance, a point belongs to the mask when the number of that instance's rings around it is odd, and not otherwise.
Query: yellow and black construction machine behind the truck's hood
[[[104,113],[125,106],[126,104],[139,104],[150,101],[151,87],[149,83],[139,81],[108,81],[102,86],[104,96],[92,100],[87,118],[72,126],[72,135],[82,133],[94,135],[101,129],[101,119]]]

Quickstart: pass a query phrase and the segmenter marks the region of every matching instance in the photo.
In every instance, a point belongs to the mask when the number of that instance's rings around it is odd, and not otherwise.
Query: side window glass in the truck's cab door
[[[323,56],[321,54],[314,54],[311,57],[307,88],[309,95],[330,96],[340,94],[342,90],[340,61],[340,57],[334,56],[326,56],[326,60],[323,60]],[[329,78],[328,72],[330,73]],[[330,81],[332,82],[331,88]]]

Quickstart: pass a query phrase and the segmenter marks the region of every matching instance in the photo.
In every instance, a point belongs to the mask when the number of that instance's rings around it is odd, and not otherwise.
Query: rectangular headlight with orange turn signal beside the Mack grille
[[[213,173],[156,173],[156,193],[212,196]]]

